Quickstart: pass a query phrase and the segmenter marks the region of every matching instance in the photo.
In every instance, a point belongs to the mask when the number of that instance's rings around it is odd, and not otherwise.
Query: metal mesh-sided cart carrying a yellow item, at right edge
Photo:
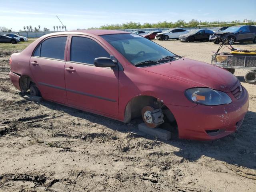
[[[244,76],[244,80],[250,84],[256,84],[256,56],[236,56],[230,53],[215,53],[212,55],[212,65],[224,68],[234,74],[235,69],[250,70]]]

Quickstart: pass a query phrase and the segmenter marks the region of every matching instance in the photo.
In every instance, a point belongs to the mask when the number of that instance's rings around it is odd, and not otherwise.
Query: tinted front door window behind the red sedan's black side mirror
[[[70,61],[94,64],[97,57],[108,57],[110,54],[94,40],[85,37],[72,37]]]

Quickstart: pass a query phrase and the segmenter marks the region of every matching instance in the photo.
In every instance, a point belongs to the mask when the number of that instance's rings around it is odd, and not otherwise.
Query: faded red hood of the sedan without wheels
[[[236,76],[227,70],[187,58],[142,69],[187,82],[192,87],[208,87],[223,92],[230,92],[230,88],[238,81]]]

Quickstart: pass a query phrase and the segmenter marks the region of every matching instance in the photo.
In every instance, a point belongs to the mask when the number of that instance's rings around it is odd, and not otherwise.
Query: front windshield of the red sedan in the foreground
[[[101,37],[116,48],[133,65],[144,62],[144,66],[159,64],[156,61],[168,56],[176,56],[160,45],[136,34],[112,34],[102,35]],[[162,61],[167,62],[165,60]]]

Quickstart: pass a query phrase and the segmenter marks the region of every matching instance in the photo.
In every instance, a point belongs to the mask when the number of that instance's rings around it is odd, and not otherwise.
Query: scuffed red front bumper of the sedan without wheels
[[[249,107],[248,92],[243,88],[242,96],[238,100],[231,93],[227,94],[232,102],[225,105],[166,105],[177,121],[179,138],[215,140],[238,130]]]

